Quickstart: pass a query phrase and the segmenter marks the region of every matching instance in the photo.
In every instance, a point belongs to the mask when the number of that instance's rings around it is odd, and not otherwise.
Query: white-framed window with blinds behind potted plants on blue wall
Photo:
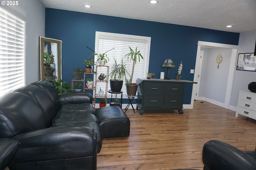
[[[106,51],[108,51],[106,54],[109,58],[109,61],[106,65],[110,66],[111,71],[111,66],[114,63],[114,58],[118,63],[120,63],[121,59],[127,53],[130,53],[130,49],[128,46],[130,46],[132,49],[136,49],[137,47],[137,49],[140,50],[140,53],[144,57],[144,60],[140,60],[140,62],[137,61],[135,65],[132,82],[136,82],[137,78],[145,78],[146,73],[148,73],[150,41],[151,37],[126,35],[118,33],[105,33],[96,31],[95,51],[96,53],[105,53]],[[110,50],[112,48],[114,49]],[[95,61],[96,60],[97,57],[95,57]],[[132,62],[130,61],[128,61],[127,63],[127,70],[129,71],[129,73],[132,72]],[[100,72],[98,74],[100,74]],[[129,79],[130,77],[127,75],[126,78]],[[99,83],[98,87],[100,86],[104,87],[103,84],[101,85]],[[108,86],[108,90],[110,90],[110,86]],[[126,94],[125,80],[123,82],[122,91],[124,94]]]

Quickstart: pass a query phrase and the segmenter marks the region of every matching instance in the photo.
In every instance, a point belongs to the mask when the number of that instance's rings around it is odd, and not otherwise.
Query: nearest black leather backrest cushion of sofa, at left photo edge
[[[42,109],[26,94],[5,94],[0,97],[0,106],[0,137],[48,127]]]

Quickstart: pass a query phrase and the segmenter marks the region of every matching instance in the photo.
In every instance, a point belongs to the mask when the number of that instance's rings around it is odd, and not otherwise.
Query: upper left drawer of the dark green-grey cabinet
[[[164,83],[144,82],[144,94],[164,94]]]

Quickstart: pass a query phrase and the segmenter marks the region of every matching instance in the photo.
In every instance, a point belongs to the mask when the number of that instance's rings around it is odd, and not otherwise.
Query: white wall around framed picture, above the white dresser
[[[254,53],[256,30],[240,33],[238,53]],[[238,59],[238,53],[236,61]],[[237,106],[239,90],[248,90],[248,84],[256,82],[256,72],[236,70],[230,106]]]

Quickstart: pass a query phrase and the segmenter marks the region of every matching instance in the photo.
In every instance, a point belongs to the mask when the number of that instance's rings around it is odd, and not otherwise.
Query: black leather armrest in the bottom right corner
[[[255,170],[256,160],[228,143],[212,140],[202,151],[204,170]]]

